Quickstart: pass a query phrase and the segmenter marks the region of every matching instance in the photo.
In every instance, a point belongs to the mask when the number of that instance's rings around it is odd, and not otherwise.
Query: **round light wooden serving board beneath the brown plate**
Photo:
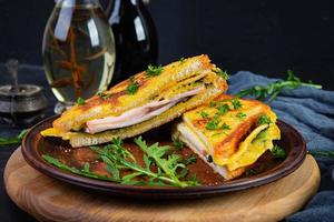
[[[13,202],[39,221],[279,221],[315,194],[320,170],[312,155],[292,174],[266,185],[216,198],[145,201],[112,198],[50,179],[18,149],[4,170]]]

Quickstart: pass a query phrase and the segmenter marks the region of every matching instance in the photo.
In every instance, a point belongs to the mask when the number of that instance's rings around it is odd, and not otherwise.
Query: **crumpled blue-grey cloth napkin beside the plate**
[[[265,85],[276,80],[239,71],[229,78],[228,93],[235,94],[242,89]],[[283,91],[268,104],[278,119],[292,124],[303,134],[308,150],[334,151],[334,91],[302,87]],[[287,218],[288,222],[334,221],[334,160],[316,160],[322,172],[320,192],[302,211]]]

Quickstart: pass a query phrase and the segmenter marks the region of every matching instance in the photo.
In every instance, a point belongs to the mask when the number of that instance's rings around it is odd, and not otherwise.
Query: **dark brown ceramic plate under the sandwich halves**
[[[138,185],[124,185],[107,181],[89,179],[76,175],[50,165],[42,160],[42,154],[50,154],[70,165],[80,165],[82,161],[89,161],[88,148],[71,149],[71,147],[59,139],[42,138],[40,131],[49,128],[57,117],[46,119],[36,124],[24,137],[22,141],[22,153],[26,161],[36,170],[41,173],[61,180],[67,183],[75,184],[84,189],[90,189],[98,192],[104,192],[112,195],[130,196],[130,198],[145,198],[145,199],[185,199],[185,198],[199,198],[212,196],[225,192],[244,190],[262,184],[266,184],[278,180],[294,170],[296,170],[306,155],[305,141],[302,135],[291,125],[283,121],[277,124],[282,132],[282,139],[278,145],[285,149],[287,157],[284,160],[277,161],[269,152],[262,155],[262,158],[252,167],[256,170],[254,175],[243,175],[232,181],[223,181],[220,176],[214,173],[200,159],[197,159],[195,164],[189,165],[190,173],[196,173],[197,179],[203,185],[178,189],[178,188],[161,188],[161,186],[138,186]],[[169,133],[164,129],[154,130],[144,134],[147,141],[160,141],[166,144],[169,141]],[[161,134],[164,138],[161,138]],[[132,149],[130,142],[128,149]],[[189,155],[191,151],[184,149],[184,155]],[[95,170],[100,171],[98,165]]]

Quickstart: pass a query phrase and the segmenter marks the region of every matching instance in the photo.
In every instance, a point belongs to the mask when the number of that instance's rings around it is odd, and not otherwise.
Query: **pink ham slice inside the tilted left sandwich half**
[[[204,87],[199,87],[194,90],[189,90],[187,92],[177,94],[171,99],[153,101],[143,107],[128,110],[118,117],[108,117],[88,121],[86,123],[86,132],[94,134],[106,130],[125,128],[144,122],[156,115],[161,114],[163,112],[174,107],[176,103],[184,100],[185,98],[198,94],[203,89]]]

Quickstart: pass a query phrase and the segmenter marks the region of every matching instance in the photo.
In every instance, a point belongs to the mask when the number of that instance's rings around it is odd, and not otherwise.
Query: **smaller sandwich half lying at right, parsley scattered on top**
[[[276,114],[268,105],[222,94],[184,113],[173,137],[230,180],[243,174],[281,138],[275,122]]]

